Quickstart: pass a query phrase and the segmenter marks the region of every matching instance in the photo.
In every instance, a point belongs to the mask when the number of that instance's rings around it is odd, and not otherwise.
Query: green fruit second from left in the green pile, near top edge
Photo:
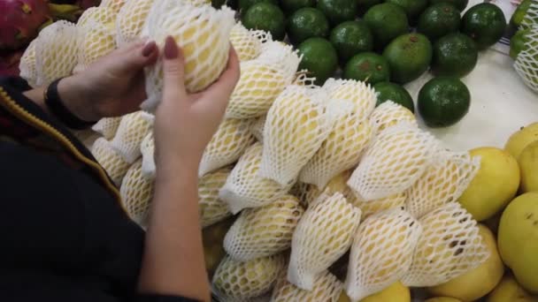
[[[329,22],[318,9],[304,7],[288,19],[288,37],[294,44],[311,37],[326,37],[328,33]]]

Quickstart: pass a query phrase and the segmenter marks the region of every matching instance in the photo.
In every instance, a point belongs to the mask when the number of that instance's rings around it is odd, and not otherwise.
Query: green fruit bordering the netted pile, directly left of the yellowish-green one
[[[374,52],[363,52],[354,57],[343,69],[344,79],[356,79],[372,85],[390,79],[387,60]]]

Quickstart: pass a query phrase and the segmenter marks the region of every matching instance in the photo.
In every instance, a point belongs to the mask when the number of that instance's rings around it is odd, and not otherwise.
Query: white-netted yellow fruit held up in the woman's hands
[[[196,93],[210,86],[227,66],[230,31],[234,11],[227,6],[195,6],[181,0],[159,0],[151,7],[142,34],[163,49],[167,36],[173,36],[185,60],[185,87]],[[153,111],[162,98],[163,62],[145,69],[146,94],[142,109]]]

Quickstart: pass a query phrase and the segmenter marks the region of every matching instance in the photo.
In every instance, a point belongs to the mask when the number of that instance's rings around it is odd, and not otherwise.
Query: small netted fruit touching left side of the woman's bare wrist
[[[144,117],[144,112],[127,114],[119,122],[118,131],[112,139],[114,147],[126,162],[135,162],[140,157],[140,144],[151,131],[151,122]]]

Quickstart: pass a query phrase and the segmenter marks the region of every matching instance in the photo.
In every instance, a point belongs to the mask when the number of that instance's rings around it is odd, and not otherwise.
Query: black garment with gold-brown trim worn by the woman
[[[0,80],[0,300],[180,302],[136,294],[143,230],[88,150]]]

